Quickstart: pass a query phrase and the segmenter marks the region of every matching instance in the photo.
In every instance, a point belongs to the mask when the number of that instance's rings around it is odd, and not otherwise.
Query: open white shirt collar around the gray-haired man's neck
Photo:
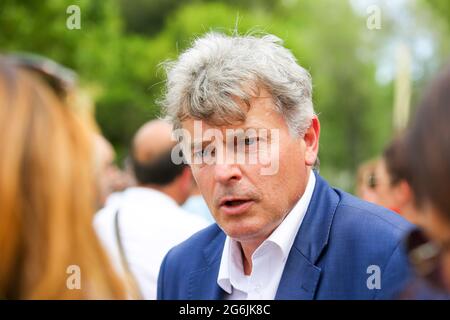
[[[308,183],[302,197],[294,205],[290,213],[281,222],[281,224],[258,247],[258,249],[256,249],[253,257],[255,254],[258,254],[258,251],[261,253],[260,249],[266,246],[267,243],[273,243],[281,250],[283,258],[287,259],[298,230],[300,229],[300,225],[303,222],[303,218],[305,217],[309,203],[311,202],[315,184],[315,174],[313,171],[310,171]],[[232,293],[232,286],[235,285],[235,281],[231,274],[237,277],[245,277],[243,273],[240,245],[236,240],[233,240],[227,236],[222,252],[217,284],[228,294]],[[242,281],[240,281],[240,283],[242,283]]]

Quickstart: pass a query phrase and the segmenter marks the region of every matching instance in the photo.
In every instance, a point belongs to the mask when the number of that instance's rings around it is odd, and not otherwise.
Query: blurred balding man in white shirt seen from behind
[[[208,225],[183,210],[193,187],[190,168],[171,160],[171,126],[153,120],[136,133],[131,163],[136,186],[99,211],[96,229],[117,267],[135,283],[141,298],[155,299],[164,255]]]

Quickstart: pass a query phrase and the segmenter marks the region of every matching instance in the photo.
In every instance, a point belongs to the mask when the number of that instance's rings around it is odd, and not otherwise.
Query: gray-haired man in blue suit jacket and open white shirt
[[[169,251],[159,299],[386,299],[407,280],[410,225],[314,170],[311,77],[280,39],[197,39],[163,107],[216,224]]]

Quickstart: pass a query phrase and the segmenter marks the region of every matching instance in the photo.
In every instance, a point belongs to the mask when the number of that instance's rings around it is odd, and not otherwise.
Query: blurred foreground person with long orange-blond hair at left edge
[[[92,227],[91,133],[65,103],[65,70],[0,58],[0,299],[125,298]]]

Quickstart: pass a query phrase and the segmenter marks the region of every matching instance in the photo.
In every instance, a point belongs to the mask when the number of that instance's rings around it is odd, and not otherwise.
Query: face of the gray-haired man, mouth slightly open
[[[247,110],[243,102],[239,103]],[[303,195],[310,168],[317,157],[320,127],[314,117],[304,137],[291,135],[285,119],[275,110],[273,100],[265,90],[260,90],[259,96],[249,101],[249,106],[245,122],[238,125],[216,127],[205,121],[201,125],[203,131],[220,130],[225,140],[224,149],[230,144],[227,129],[250,131],[243,140],[231,139],[231,145],[233,141],[244,141],[243,152],[247,155],[258,153],[259,161],[238,162],[227,152],[223,161],[194,163],[191,168],[209,209],[225,233],[239,241],[261,242]],[[194,136],[195,121],[187,119],[182,123],[191,137]],[[261,134],[265,132],[269,135]],[[202,143],[204,150],[209,141],[202,139]],[[211,149],[208,152],[211,153]],[[274,162],[278,164],[277,170],[262,174],[268,163]]]

